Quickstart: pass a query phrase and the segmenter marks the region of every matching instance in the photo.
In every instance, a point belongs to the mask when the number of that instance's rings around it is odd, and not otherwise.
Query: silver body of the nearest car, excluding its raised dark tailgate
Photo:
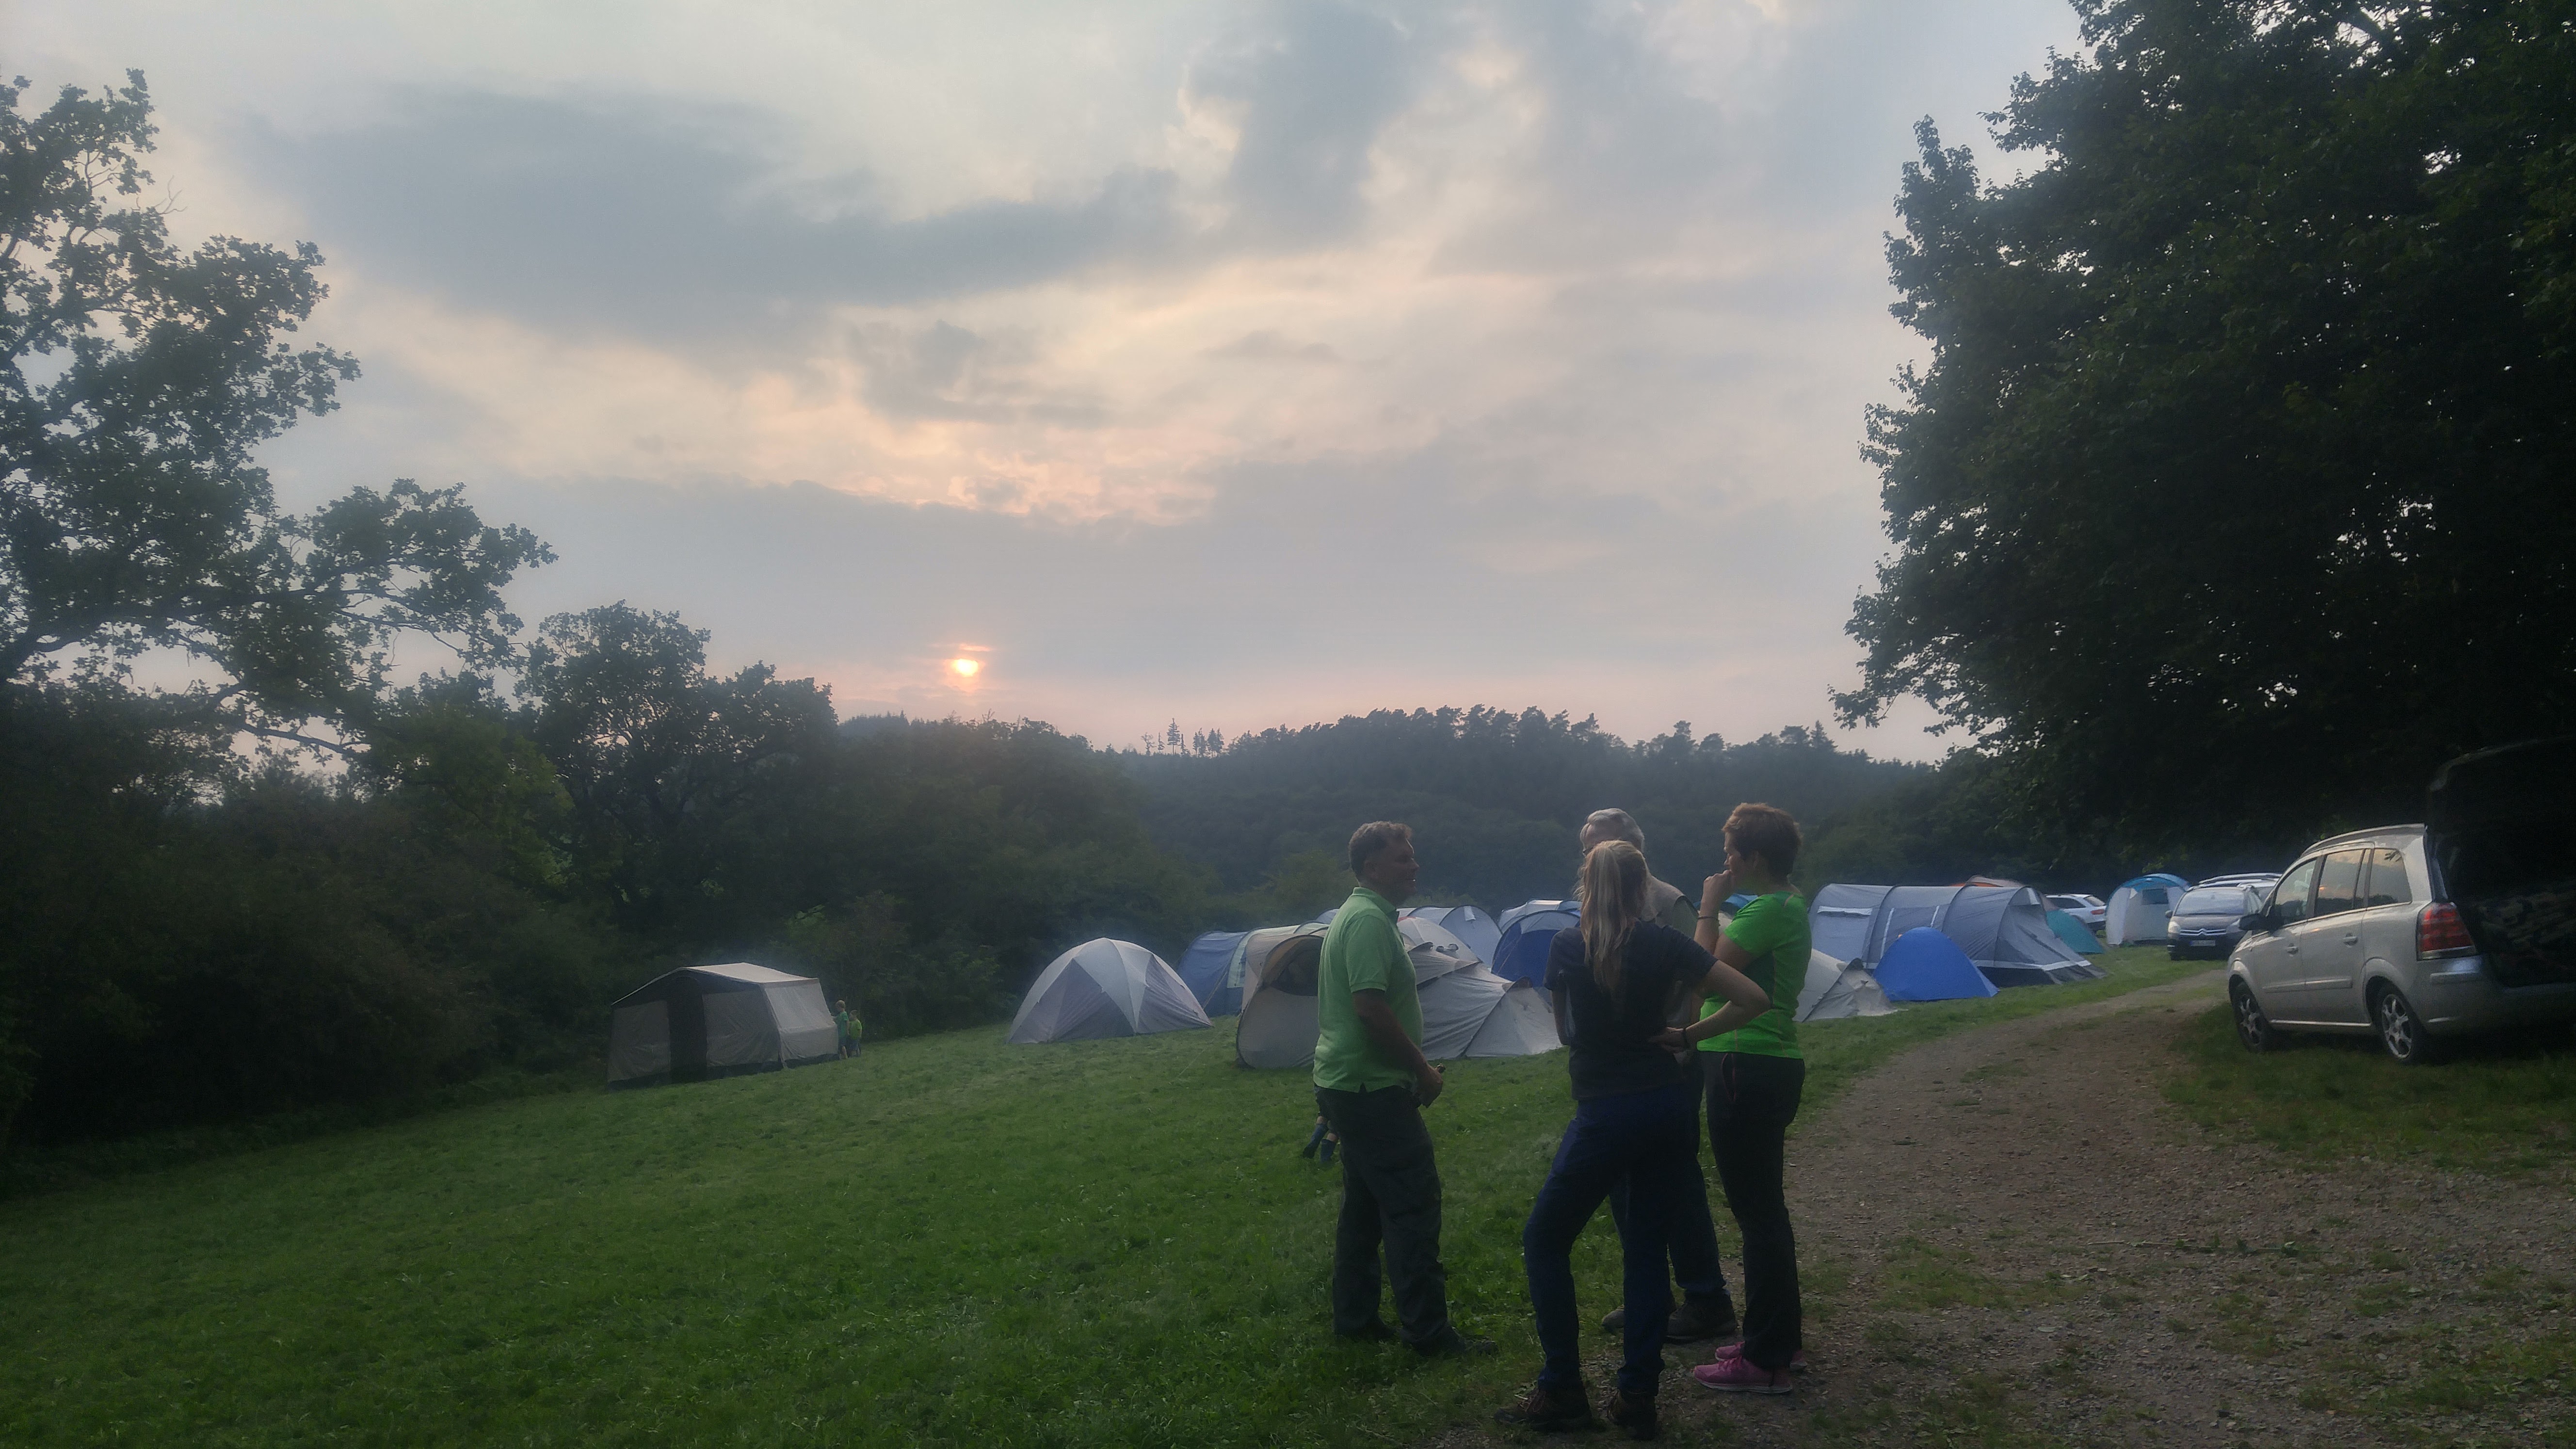
[[[2398,1062],[2439,1036],[2576,1016],[2576,980],[2499,980],[2445,890],[2421,825],[2334,835],[2300,851],[2228,954],[2236,1036],[2375,1031]]]

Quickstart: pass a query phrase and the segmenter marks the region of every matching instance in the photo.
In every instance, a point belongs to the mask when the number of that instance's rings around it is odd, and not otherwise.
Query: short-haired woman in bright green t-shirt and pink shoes
[[[1680,1036],[1700,1049],[1708,1088],[1708,1150],[1726,1183],[1726,1207],[1744,1235],[1744,1343],[1718,1348],[1716,1361],[1690,1372],[1726,1392],[1785,1395],[1790,1369],[1806,1366],[1798,1343],[1798,1235],[1788,1222],[1788,1124],[1798,1116],[1806,1060],[1798,1055],[1798,987],[1811,951],[1806,900],[1790,890],[1798,864],[1798,822],[1770,804],[1739,804],[1726,817],[1726,869],[1700,887],[1700,949],[1759,985],[1772,1008],[1723,1026],[1718,1000]],[[1728,895],[1754,900],[1718,931],[1718,905]]]

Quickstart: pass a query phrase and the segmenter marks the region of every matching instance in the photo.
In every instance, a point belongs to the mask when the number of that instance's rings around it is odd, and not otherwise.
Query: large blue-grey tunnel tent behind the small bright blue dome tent
[[[2099,980],[2048,926],[2048,905],[2027,884],[1829,884],[1808,905],[1814,946],[1839,962],[1878,967],[1888,946],[1932,926],[1950,936],[1994,985]],[[1878,975],[1886,985],[1886,972]],[[1893,987],[1888,987],[1893,998]]]

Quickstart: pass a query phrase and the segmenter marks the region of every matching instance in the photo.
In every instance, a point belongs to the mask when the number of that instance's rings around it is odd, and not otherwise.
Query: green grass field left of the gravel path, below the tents
[[[1808,1029],[1821,1106],[1917,1042],[2208,967]],[[500,1101],[0,1204],[13,1444],[1383,1444],[1535,1372],[1520,1220],[1564,1057],[1432,1109],[1471,1364],[1340,1346],[1337,1176],[1231,1021],[997,1029],[639,1093]],[[1721,1214],[1723,1217],[1723,1214]],[[1577,1253],[1613,1302],[1607,1220]]]

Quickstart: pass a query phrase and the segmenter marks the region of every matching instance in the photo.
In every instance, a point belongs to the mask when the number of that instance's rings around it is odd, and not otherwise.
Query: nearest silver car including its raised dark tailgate
[[[2236,1039],[2375,1034],[2398,1062],[2576,1021],[2576,737],[2463,755],[2427,825],[2316,841],[2241,920]]]

